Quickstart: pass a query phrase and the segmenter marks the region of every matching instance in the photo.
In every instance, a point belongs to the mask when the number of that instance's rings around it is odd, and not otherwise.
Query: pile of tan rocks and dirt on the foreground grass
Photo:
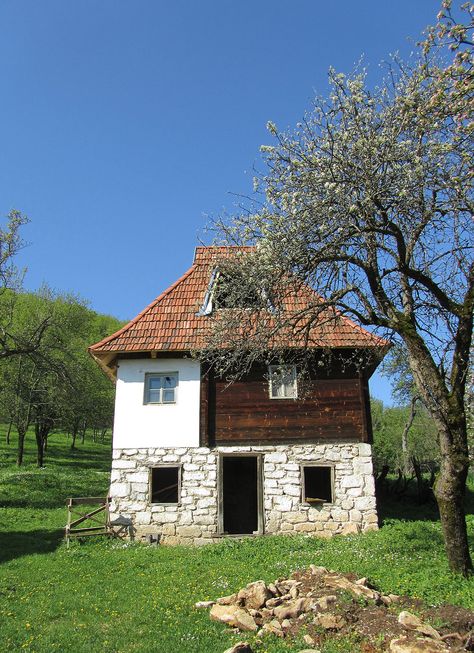
[[[394,612],[392,607],[400,601],[397,595],[376,591],[368,586],[365,578],[355,579],[315,565],[292,578],[278,579],[274,583],[267,584],[263,580],[249,583],[235,594],[216,601],[200,601],[196,607],[210,608],[211,619],[227,624],[236,632],[248,631],[257,636],[272,633],[286,637],[294,636],[302,626],[306,626],[306,630],[313,634],[336,634],[357,631],[357,618],[351,617],[347,610],[348,596],[349,603],[352,597],[356,605],[380,608],[384,611],[384,618],[391,620],[389,628],[381,633],[389,635],[385,650],[391,653],[471,650],[464,648],[465,641],[460,636],[457,647],[450,648],[444,641],[448,636],[443,638],[437,630],[406,610],[402,610],[397,618],[400,608]],[[463,640],[462,643],[459,640]],[[317,635],[311,636],[307,632],[304,641],[308,646],[314,646]],[[248,643],[240,642],[226,653],[251,653],[251,650]],[[309,651],[317,649],[306,649],[305,653]]]

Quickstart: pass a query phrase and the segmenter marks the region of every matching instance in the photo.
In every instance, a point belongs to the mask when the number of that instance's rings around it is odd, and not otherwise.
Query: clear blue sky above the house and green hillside
[[[376,81],[439,4],[2,0],[0,215],[31,220],[26,286],[136,315],[251,193],[267,121],[298,122],[330,66]]]

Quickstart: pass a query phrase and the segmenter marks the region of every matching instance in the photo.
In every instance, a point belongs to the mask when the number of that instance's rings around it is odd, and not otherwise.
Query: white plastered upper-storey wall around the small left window
[[[175,404],[144,404],[145,374],[178,372]],[[185,358],[120,360],[114,449],[198,447],[200,363]]]

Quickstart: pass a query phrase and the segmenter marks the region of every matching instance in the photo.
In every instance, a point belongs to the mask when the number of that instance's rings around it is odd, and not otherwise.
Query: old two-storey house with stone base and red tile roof
[[[339,316],[314,326],[314,342],[337,355],[303,396],[293,365],[215,378],[191,352],[213,310],[216,259],[233,252],[197,247],[180,279],[90,347],[116,379],[112,517],[170,544],[377,528],[368,377],[387,343]],[[348,364],[362,350],[373,352],[363,369]]]

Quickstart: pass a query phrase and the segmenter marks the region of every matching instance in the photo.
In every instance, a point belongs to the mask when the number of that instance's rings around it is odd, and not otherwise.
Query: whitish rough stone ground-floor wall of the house
[[[377,528],[371,447],[368,444],[304,444],[207,448],[115,449],[111,518],[126,518],[136,535],[160,535],[164,544],[205,544],[219,539],[219,453],[263,456],[265,533],[330,537]],[[334,468],[334,502],[312,507],[301,499],[301,465]],[[178,505],[149,501],[149,469],[182,465]]]

